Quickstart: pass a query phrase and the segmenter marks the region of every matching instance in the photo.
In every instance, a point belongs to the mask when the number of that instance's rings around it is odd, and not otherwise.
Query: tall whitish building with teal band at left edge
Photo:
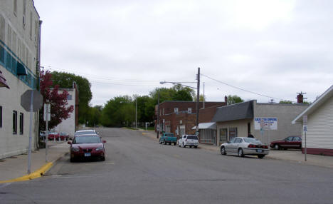
[[[21,95],[36,88],[41,21],[32,0],[0,1],[0,158],[26,153],[29,116]],[[33,113],[33,148],[37,146],[38,113]]]

